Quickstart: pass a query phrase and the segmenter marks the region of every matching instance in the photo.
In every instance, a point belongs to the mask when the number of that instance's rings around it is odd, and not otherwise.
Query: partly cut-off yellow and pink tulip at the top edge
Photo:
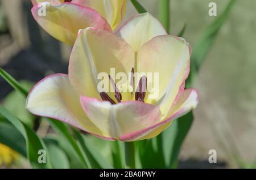
[[[73,45],[79,29],[112,32],[121,22],[126,0],[32,0],[32,15],[51,36]]]

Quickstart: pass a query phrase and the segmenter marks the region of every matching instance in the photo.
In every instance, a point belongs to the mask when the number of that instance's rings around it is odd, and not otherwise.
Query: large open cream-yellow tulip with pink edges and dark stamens
[[[37,83],[28,95],[26,108],[106,140],[154,138],[197,105],[195,89],[184,89],[190,56],[189,44],[168,35],[148,13],[135,16],[115,35],[104,29],[81,29],[68,75],[50,75]],[[133,95],[115,85],[113,93],[99,92],[98,73],[110,75],[113,67],[127,76],[158,72],[159,82],[151,81],[159,84],[158,96],[149,98],[150,93],[142,91],[141,84],[147,83],[144,76],[138,84],[130,84],[137,87]],[[113,85],[114,77],[109,78]]]

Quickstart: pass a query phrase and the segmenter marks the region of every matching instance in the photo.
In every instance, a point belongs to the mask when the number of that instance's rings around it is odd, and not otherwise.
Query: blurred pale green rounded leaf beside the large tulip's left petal
[[[22,87],[26,87],[29,89],[32,87],[32,83],[30,82],[20,82]],[[25,123],[29,127],[34,126],[35,115],[32,115],[28,110],[25,108],[26,106],[26,97],[21,95],[18,91],[13,91],[9,93],[5,97],[3,101],[3,106],[10,111],[10,113],[15,114],[20,121]]]

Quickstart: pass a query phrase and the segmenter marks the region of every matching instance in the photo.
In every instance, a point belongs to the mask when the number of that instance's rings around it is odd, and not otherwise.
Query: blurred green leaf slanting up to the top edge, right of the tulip
[[[228,6],[225,8],[221,15],[218,15],[216,20],[210,24],[204,31],[203,35],[199,38],[196,46],[193,48],[191,61],[195,61],[196,70],[198,71],[201,63],[208,54],[213,42],[217,36],[218,31],[225,24],[229,14],[234,7],[236,0],[230,0]]]

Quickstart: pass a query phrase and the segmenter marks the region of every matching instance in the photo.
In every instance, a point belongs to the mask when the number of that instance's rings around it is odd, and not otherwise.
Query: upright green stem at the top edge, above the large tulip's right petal
[[[170,0],[160,0],[159,1],[159,20],[162,22],[164,28],[167,33],[169,33],[170,29]]]

